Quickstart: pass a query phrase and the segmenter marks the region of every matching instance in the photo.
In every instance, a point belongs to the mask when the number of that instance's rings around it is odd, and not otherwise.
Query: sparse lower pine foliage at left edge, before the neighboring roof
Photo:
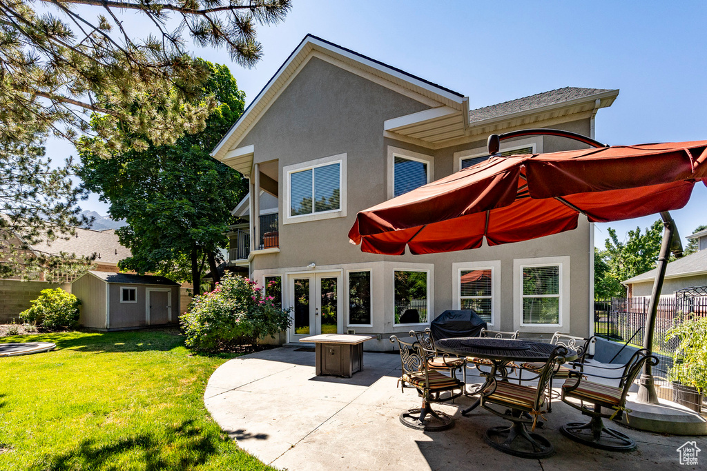
[[[48,250],[54,240],[71,237],[74,227],[90,222],[78,208],[86,191],[71,183],[71,159],[52,168],[45,136],[31,123],[25,133],[29,142],[0,140],[0,278],[31,279],[44,273],[45,280],[54,281],[81,273],[91,263],[90,258]],[[37,249],[40,243],[47,250]]]

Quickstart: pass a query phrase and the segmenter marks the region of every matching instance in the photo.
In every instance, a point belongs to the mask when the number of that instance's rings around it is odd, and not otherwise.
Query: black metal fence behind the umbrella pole
[[[606,338],[624,345],[643,347],[645,318],[648,316],[649,297],[614,298],[597,301],[594,305],[594,332],[597,337]],[[674,400],[670,370],[679,368],[677,339],[666,340],[666,333],[673,326],[682,323],[688,316],[707,316],[707,296],[661,297],[653,331],[653,352],[659,354],[661,362],[653,369],[655,386],[662,398]],[[688,405],[699,409],[701,398],[688,398]]]

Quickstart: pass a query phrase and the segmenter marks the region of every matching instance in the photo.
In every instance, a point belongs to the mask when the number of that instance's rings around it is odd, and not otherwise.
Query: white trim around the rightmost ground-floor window
[[[556,324],[524,323],[522,321],[522,269],[533,266],[559,266],[559,318]],[[513,328],[523,332],[554,333],[570,330],[570,257],[515,258],[513,260]],[[537,297],[551,297],[539,295]]]

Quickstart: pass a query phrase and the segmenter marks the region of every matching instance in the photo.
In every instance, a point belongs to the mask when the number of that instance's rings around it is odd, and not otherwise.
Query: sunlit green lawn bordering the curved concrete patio
[[[167,330],[0,338],[18,341],[57,350],[0,358],[0,470],[273,469],[204,407],[225,357]]]

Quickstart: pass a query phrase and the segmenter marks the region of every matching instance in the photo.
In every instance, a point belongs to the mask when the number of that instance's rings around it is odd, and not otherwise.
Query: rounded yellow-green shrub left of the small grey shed
[[[78,323],[79,304],[81,301],[74,294],[62,288],[42,290],[32,307],[20,313],[20,318],[49,330],[71,328]]]

